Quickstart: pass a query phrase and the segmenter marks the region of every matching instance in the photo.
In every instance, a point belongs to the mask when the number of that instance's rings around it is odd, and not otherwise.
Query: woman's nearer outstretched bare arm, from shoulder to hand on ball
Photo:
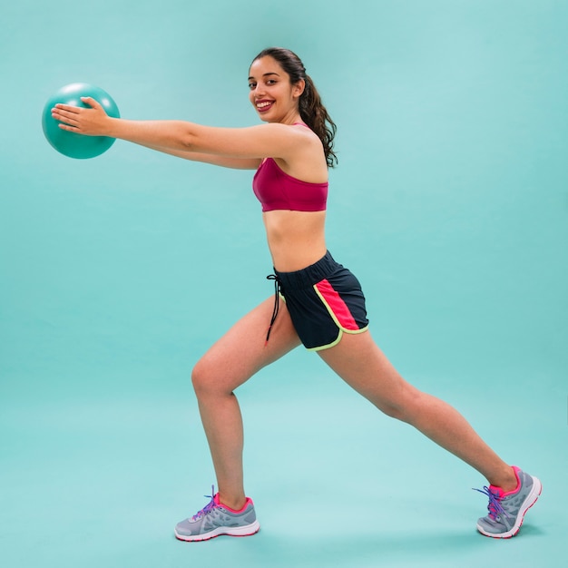
[[[88,136],[120,138],[183,157],[188,157],[186,152],[191,152],[194,158],[211,163],[219,161],[211,161],[203,154],[223,159],[244,159],[247,167],[253,167],[250,160],[256,160],[258,165],[258,161],[266,157],[288,161],[302,152],[306,143],[314,140],[307,132],[279,123],[218,128],[183,121],[129,121],[108,116],[91,97],[83,97],[82,100],[90,108],[55,105],[52,115],[62,122],[60,128]],[[224,160],[221,162],[226,163]],[[230,167],[234,167],[236,162],[230,163]]]

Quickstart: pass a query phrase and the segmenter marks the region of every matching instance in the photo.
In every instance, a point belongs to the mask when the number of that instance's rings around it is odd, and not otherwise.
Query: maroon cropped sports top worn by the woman
[[[262,211],[325,211],[328,182],[310,183],[282,171],[272,158],[261,164],[252,180],[252,191]]]

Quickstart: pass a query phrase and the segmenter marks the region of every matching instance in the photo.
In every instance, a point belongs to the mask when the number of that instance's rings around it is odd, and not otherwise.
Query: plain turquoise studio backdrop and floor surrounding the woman
[[[100,0],[0,7],[4,566],[557,566],[565,557],[568,3]],[[240,389],[262,530],[182,544],[214,480],[195,361],[269,296],[251,173],[44,140],[67,83],[122,116],[257,123],[250,60],[298,52],[338,123],[328,245],[375,338],[543,497],[475,534],[475,471],[298,349]]]

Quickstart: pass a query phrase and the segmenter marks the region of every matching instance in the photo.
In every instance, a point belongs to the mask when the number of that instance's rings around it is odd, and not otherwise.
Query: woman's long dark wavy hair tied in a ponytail
[[[252,60],[252,63],[261,57],[267,56],[278,61],[282,69],[289,74],[290,83],[296,84],[301,79],[306,82],[304,92],[299,97],[299,115],[308,124],[309,128],[318,134],[319,140],[323,144],[328,167],[333,168],[338,163],[338,157],[333,152],[333,139],[338,127],[329,117],[326,107],[321,103],[321,97],[316,86],[306,73],[306,67],[304,67],[297,54],[283,47],[263,49]]]

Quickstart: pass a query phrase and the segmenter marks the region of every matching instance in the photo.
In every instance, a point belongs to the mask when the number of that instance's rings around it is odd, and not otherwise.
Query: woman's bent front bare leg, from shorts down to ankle
[[[242,419],[233,391],[262,367],[299,345],[284,302],[280,302],[278,318],[266,343],[273,306],[274,299],[267,299],[240,319],[201,357],[191,376],[217,475],[220,502],[233,509],[240,509],[245,503]]]

